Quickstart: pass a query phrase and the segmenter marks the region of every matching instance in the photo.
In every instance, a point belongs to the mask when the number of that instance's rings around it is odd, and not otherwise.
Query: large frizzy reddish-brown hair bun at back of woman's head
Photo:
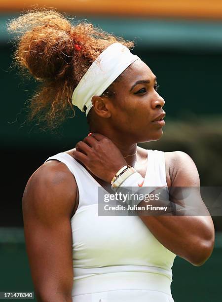
[[[19,39],[17,63],[39,80],[64,76],[74,54],[71,29],[67,19],[51,10],[26,13],[12,21],[9,30]]]

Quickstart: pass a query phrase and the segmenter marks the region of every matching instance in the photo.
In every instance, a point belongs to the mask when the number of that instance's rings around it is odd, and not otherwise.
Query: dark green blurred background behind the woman
[[[21,209],[29,177],[48,156],[74,148],[88,133],[84,113],[78,110],[57,133],[42,133],[37,124],[27,124],[25,101],[32,96],[37,83],[22,78],[12,68],[13,46],[6,22],[17,15],[16,11],[0,11],[3,168],[0,291],[33,290]],[[202,186],[222,186],[222,20],[84,13],[74,20],[81,19],[134,40],[137,46],[132,52],[157,76],[159,92],[166,102],[164,135],[158,142],[139,145],[162,151],[185,151],[197,165]],[[216,245],[207,263],[194,267],[179,257],[175,260],[172,284],[175,302],[222,300],[222,219],[213,219]]]

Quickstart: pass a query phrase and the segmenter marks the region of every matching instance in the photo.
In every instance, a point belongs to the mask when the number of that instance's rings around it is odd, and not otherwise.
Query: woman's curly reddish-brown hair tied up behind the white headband
[[[28,120],[37,119],[40,125],[46,123],[51,129],[67,117],[74,117],[74,88],[101,52],[117,41],[129,49],[134,46],[133,41],[115,37],[85,21],[71,23],[47,8],[32,9],[13,19],[8,23],[8,31],[15,35],[16,65],[40,82],[28,102]],[[80,50],[75,49],[76,43]],[[113,94],[111,86],[103,96]]]

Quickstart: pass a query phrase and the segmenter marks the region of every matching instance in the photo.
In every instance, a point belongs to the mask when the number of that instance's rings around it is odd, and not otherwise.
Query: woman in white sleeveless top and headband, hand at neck
[[[156,77],[129,51],[133,42],[91,24],[73,26],[51,10],[25,13],[9,29],[19,34],[17,63],[42,82],[30,118],[53,128],[73,102],[91,131],[73,150],[49,157],[24,191],[38,301],[172,302],[174,258],[201,265],[210,257],[211,217],[98,215],[101,187],[199,186],[184,152],[137,146],[162,136]]]

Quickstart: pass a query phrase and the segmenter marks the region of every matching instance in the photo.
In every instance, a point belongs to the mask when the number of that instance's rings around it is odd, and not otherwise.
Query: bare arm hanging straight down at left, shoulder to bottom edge
[[[70,219],[77,186],[65,164],[44,163],[23,195],[26,248],[37,300],[72,302],[73,260]]]

